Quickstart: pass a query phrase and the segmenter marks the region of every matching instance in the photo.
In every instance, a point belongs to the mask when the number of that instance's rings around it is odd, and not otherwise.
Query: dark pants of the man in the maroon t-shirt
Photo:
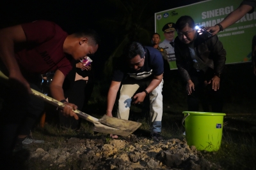
[[[39,90],[36,83],[30,83],[30,87]],[[8,81],[8,87],[2,96],[4,102],[0,113],[0,155],[6,157],[12,154],[17,135],[29,134],[44,111],[44,101],[28,94],[26,87],[12,79]]]

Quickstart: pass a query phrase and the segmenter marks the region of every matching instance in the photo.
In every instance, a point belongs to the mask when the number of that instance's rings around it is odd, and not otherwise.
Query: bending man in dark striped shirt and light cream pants
[[[162,139],[160,132],[163,115],[163,72],[163,57],[158,50],[153,47],[142,46],[137,42],[127,46],[115,68],[109,87],[106,115],[112,117],[116,94],[122,81],[117,117],[128,120],[131,103],[140,104],[146,96],[149,96],[151,135],[154,139]],[[135,94],[139,87],[146,88]],[[114,134],[111,134],[111,137],[118,138]]]

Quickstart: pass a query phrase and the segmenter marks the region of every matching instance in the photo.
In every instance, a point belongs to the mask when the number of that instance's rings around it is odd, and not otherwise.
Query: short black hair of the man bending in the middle
[[[145,50],[140,43],[134,41],[125,46],[124,54],[128,59],[133,59],[136,55],[140,55],[142,59],[145,55]]]

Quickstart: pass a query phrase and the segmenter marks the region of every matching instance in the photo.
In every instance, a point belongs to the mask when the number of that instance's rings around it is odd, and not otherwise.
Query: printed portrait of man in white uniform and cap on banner
[[[167,52],[168,61],[176,60],[174,53],[175,24],[169,22],[163,26],[164,41],[159,44]]]

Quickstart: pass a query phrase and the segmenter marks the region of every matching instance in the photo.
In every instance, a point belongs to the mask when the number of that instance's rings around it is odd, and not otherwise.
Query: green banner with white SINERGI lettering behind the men
[[[236,10],[241,0],[209,0],[155,13],[155,31],[164,40],[162,28],[168,22],[176,22],[182,15],[189,15],[195,24],[211,27],[223,20],[228,13]],[[239,21],[218,33],[227,51],[226,64],[251,60],[252,38],[256,34],[256,11],[244,15]],[[175,37],[177,32],[175,32]],[[177,69],[175,59],[170,61],[171,69]]]

